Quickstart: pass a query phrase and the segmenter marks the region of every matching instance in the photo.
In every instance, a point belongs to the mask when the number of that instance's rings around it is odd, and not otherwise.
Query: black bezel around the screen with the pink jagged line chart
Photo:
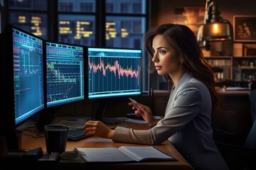
[[[89,49],[90,48],[97,48],[97,49],[110,49],[110,50],[140,50],[141,59],[140,59],[140,93],[139,94],[131,94],[131,95],[124,95],[124,96],[106,96],[106,97],[99,97],[99,98],[89,98]],[[106,46],[88,46],[87,47],[87,54],[86,54],[86,62],[87,62],[87,72],[86,72],[86,86],[87,86],[87,101],[107,101],[110,99],[119,99],[119,98],[128,98],[128,97],[137,97],[142,96],[142,52],[141,48],[132,48],[132,47],[106,47]]]

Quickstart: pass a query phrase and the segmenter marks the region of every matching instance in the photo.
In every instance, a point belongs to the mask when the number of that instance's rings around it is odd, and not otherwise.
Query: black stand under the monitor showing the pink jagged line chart
[[[107,124],[124,123],[123,120],[117,120],[115,118],[103,118],[106,107],[107,107],[107,100],[100,101],[100,104],[97,108],[97,112],[95,115],[95,120],[100,120],[102,123],[107,123]]]

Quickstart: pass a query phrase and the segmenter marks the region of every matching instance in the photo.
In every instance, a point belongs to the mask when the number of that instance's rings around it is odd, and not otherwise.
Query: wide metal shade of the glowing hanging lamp
[[[223,41],[233,40],[233,28],[230,23],[205,23],[198,29],[198,40]]]

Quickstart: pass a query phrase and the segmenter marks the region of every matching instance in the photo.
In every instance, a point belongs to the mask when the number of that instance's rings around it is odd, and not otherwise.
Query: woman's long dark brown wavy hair
[[[181,67],[186,73],[206,84],[212,99],[212,111],[214,111],[220,95],[215,90],[213,69],[203,57],[203,52],[193,31],[187,26],[172,23],[151,28],[145,35],[145,48],[151,57],[154,56],[152,41],[156,35],[164,35],[164,38],[174,48],[176,54],[183,58]],[[151,72],[154,72],[154,70],[154,63],[151,62]],[[165,78],[168,81],[169,89],[171,89],[174,85],[171,77],[166,74]]]

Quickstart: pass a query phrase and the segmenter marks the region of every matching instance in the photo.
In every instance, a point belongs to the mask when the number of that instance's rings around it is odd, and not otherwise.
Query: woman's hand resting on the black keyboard
[[[95,135],[98,137],[112,139],[114,130],[110,130],[104,123],[95,120],[88,120],[83,126],[85,135]]]

